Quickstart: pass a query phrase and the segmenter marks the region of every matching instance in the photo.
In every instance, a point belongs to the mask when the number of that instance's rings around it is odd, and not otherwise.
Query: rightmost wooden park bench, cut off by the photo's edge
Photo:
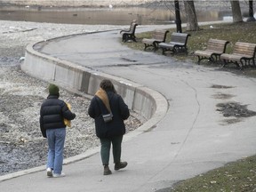
[[[220,55],[220,60],[224,61],[223,67],[228,63],[234,63],[240,69],[245,66],[250,66],[251,61],[252,65],[255,66],[255,52],[256,44],[236,42],[234,45],[233,53],[223,53]]]

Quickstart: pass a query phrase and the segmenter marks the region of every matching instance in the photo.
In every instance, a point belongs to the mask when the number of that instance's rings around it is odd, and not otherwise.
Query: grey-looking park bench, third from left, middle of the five
[[[160,43],[158,44],[159,48],[164,52],[188,52],[187,43],[188,43],[189,34],[185,33],[176,33],[173,32],[171,36],[171,42],[169,43]]]

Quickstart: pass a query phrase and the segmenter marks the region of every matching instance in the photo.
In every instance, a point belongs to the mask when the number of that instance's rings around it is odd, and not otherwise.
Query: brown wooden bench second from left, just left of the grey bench
[[[156,52],[158,44],[165,42],[167,33],[169,33],[168,30],[155,30],[152,38],[143,38],[142,43],[145,45],[144,50],[152,46],[153,50]]]

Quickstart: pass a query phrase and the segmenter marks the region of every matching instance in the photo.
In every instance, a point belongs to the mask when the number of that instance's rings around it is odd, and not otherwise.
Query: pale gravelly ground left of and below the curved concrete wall
[[[67,25],[0,20],[0,175],[45,164],[47,142],[39,128],[39,110],[47,97],[46,82],[24,74],[20,63],[31,42],[122,26]],[[99,145],[94,122],[87,115],[90,100],[60,91],[76,113],[67,128],[65,157],[76,156]],[[132,113],[125,121],[127,132],[142,124]]]

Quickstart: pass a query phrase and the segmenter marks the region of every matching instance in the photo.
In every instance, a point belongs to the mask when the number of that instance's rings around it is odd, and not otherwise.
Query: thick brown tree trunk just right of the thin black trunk
[[[187,30],[196,31],[199,29],[197,18],[196,18],[196,9],[194,1],[184,1],[185,12],[187,17]]]

